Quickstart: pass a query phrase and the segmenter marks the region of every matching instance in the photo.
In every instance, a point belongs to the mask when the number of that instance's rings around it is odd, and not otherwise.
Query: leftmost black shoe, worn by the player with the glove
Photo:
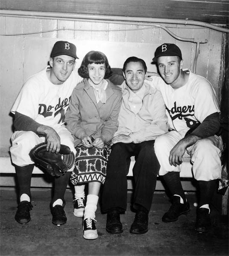
[[[17,212],[15,214],[15,220],[20,224],[28,223],[31,220],[30,210],[32,210],[32,204],[28,201],[21,201],[17,206]]]

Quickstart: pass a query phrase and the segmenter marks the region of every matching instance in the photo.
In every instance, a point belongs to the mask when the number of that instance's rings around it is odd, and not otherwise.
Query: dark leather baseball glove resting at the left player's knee
[[[74,162],[75,156],[70,148],[61,144],[58,154],[46,150],[47,143],[40,143],[31,149],[29,156],[31,160],[41,166],[52,176],[61,176],[69,170]]]

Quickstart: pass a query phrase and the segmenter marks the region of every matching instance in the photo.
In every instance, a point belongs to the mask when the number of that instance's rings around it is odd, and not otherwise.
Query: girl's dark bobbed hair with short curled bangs
[[[104,53],[97,52],[97,51],[90,51],[85,55],[85,57],[81,63],[81,66],[78,69],[78,74],[82,78],[89,78],[87,65],[93,64],[93,63],[105,64],[106,71],[105,71],[104,79],[107,79],[112,74],[110,65],[107,60],[107,56]]]

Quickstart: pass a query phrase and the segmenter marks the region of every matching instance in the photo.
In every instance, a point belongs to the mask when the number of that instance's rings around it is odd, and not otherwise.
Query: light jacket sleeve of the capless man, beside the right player
[[[154,99],[149,111],[152,116],[151,124],[130,134],[134,143],[141,143],[146,140],[155,140],[157,136],[168,132],[168,118],[165,113],[165,103],[158,90],[156,90],[154,94]]]

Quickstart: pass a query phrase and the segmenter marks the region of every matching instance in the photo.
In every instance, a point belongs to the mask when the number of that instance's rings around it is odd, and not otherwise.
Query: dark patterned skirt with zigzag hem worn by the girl
[[[110,143],[103,148],[86,148],[82,143],[76,147],[75,168],[70,180],[73,185],[99,181],[104,183],[106,178],[107,160],[110,155]]]

